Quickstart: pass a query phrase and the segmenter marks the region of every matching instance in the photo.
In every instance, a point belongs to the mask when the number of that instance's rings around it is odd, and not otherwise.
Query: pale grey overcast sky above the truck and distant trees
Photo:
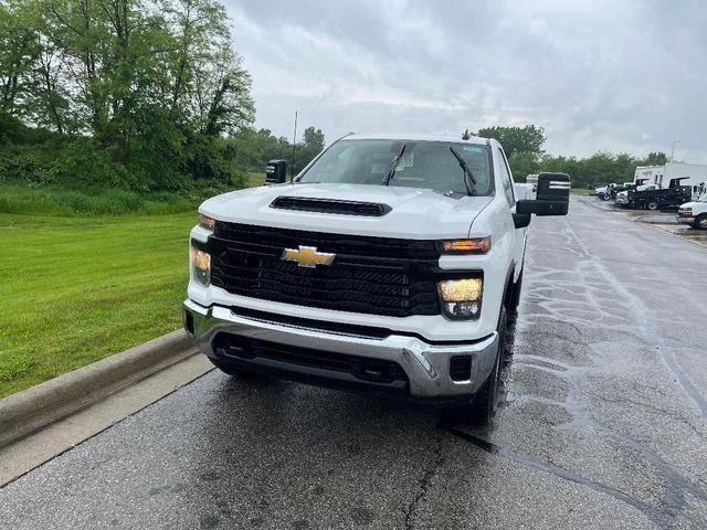
[[[707,162],[703,0],[225,0],[257,127],[546,128],[546,150]]]

